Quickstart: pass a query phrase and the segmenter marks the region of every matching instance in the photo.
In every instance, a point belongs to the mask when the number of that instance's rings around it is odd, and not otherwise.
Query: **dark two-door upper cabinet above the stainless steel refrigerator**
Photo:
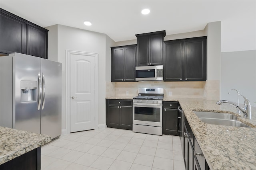
[[[0,53],[47,59],[48,30],[0,8]]]

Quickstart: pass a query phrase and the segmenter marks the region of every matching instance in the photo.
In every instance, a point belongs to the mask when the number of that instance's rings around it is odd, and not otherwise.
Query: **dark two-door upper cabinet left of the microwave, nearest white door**
[[[111,47],[111,82],[135,82],[136,45]]]

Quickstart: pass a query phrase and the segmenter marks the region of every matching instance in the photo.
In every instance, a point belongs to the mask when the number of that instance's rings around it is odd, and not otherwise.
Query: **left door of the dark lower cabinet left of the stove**
[[[118,128],[120,126],[119,106],[108,106],[108,127]]]

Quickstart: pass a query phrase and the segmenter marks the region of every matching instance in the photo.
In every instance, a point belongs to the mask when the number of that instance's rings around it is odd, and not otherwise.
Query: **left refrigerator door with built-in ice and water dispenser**
[[[13,57],[13,128],[40,133],[41,59],[15,53]],[[39,77],[38,77],[39,76]]]

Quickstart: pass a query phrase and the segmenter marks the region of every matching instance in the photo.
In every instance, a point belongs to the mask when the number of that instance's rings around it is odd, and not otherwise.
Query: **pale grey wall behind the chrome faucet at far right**
[[[221,58],[221,99],[237,102],[236,89],[256,107],[256,50],[223,52]],[[240,104],[244,99],[240,97]]]

